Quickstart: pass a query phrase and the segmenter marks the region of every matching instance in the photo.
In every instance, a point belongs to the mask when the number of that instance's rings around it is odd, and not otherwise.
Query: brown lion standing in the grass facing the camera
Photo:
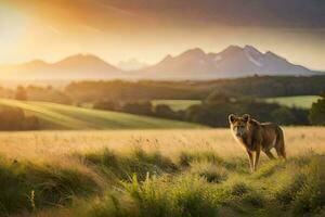
[[[281,127],[273,123],[259,123],[245,114],[242,117],[229,115],[230,128],[235,140],[244,145],[251,171],[256,171],[263,151],[270,159],[275,159],[271,149],[275,148],[277,156],[286,158],[284,133]],[[253,159],[255,153],[255,159]]]

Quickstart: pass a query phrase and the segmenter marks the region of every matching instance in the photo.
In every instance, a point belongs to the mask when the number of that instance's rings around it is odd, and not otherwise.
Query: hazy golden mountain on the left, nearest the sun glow
[[[95,55],[77,54],[56,63],[40,60],[0,67],[1,78],[100,79],[120,76],[121,71]]]

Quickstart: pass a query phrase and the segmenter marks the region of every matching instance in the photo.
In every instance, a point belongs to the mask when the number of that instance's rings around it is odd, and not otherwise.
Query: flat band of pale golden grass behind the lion
[[[325,152],[325,128],[285,127],[288,156],[313,150]],[[181,151],[213,151],[220,156],[245,154],[229,129],[188,130],[105,130],[0,132],[0,154],[10,158],[69,161],[73,152],[108,148],[127,152],[130,148],[159,150],[172,156]]]

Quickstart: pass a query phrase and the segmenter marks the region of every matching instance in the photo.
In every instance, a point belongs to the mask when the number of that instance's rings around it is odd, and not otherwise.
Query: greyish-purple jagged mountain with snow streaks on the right
[[[205,53],[196,48],[180,55],[166,56],[143,71],[171,77],[244,77],[250,75],[312,75],[312,71],[289,63],[268,51],[262,53],[251,46],[230,46],[219,53]]]

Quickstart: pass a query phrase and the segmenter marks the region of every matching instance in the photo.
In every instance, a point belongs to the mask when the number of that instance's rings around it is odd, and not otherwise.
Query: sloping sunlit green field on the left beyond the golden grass
[[[0,99],[0,105],[23,108],[39,117],[41,129],[141,129],[141,128],[200,128],[203,126],[161,118],[131,115],[55,104]]]

